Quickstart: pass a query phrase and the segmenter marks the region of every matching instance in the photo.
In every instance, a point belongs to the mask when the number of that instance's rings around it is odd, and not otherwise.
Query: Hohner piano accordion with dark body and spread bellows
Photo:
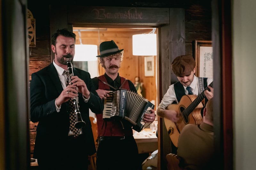
[[[120,118],[129,121],[132,129],[140,132],[145,126],[144,114],[151,113],[155,105],[127,89],[109,91],[104,100],[103,118]]]

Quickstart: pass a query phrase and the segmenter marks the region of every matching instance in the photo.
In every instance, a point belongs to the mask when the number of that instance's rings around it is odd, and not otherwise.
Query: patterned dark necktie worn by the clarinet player
[[[64,73],[68,76],[68,72],[66,70],[64,70]],[[68,77],[66,80],[66,85],[68,86]],[[69,99],[68,100],[68,112],[69,112],[69,130],[72,131],[76,136],[79,135],[81,129],[77,129],[75,128],[75,124],[76,124],[76,112],[75,112],[75,105],[72,102],[72,100],[74,99]]]

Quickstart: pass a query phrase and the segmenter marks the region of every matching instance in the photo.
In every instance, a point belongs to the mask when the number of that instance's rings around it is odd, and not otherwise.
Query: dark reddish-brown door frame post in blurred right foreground
[[[233,169],[231,1],[212,0],[214,148],[218,169]]]

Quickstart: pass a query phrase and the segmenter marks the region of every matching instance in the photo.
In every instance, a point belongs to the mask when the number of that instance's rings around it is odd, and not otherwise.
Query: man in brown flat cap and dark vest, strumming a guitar
[[[210,86],[213,82],[211,78],[202,78],[196,77],[196,62],[191,55],[181,55],[176,57],[171,64],[173,73],[177,76],[178,80],[176,83],[169,86],[169,89],[164,94],[164,97],[157,108],[157,115],[164,119],[167,119],[173,122],[175,125],[179,124],[177,122],[182,122],[182,117],[180,116],[180,111],[168,109],[168,106],[178,104],[182,101],[184,95],[195,95],[204,97],[204,106],[209,99],[213,97],[213,88]],[[187,87],[190,87],[190,92]],[[206,90],[207,89],[207,90]],[[191,93],[192,92],[192,93]],[[201,102],[201,101],[200,101]],[[186,104],[185,104],[186,105]],[[202,105],[200,109],[202,122],[203,110]],[[199,115],[200,115],[199,113]],[[191,120],[191,119],[190,119]],[[190,122],[188,122],[190,124]],[[193,122],[192,122],[193,124]],[[175,126],[174,125],[174,126]],[[168,131],[168,127],[167,131]],[[175,127],[177,128],[177,127]],[[175,130],[174,132],[169,132],[170,138],[172,139],[171,134],[174,136],[175,133],[178,135],[182,129]],[[173,130],[173,129],[172,129]],[[175,138],[175,141],[172,139],[172,143],[178,142],[178,137]],[[177,145],[172,145],[172,153],[177,153]]]

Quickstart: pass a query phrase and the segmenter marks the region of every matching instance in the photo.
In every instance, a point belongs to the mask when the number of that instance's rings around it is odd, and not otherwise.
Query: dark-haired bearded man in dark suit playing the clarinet
[[[88,72],[71,68],[74,75],[67,83],[67,62],[73,62],[75,41],[76,35],[67,29],[53,33],[53,62],[31,75],[30,120],[38,122],[33,158],[37,159],[40,169],[86,170],[88,155],[96,152],[89,109],[102,112],[103,101]],[[74,111],[74,103],[69,104],[69,100],[76,97],[79,105]],[[72,129],[70,113],[77,116],[78,111],[81,120],[76,121],[83,126]]]

